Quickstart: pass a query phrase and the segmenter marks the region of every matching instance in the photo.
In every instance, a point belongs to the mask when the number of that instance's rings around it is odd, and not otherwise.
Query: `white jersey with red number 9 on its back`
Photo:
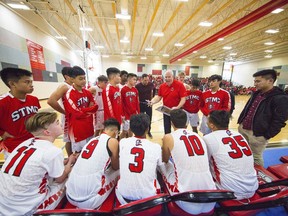
[[[102,133],[83,147],[66,183],[66,193],[70,199],[85,202],[102,193],[109,185],[105,178],[105,171],[111,162],[107,150],[109,139],[107,134]]]

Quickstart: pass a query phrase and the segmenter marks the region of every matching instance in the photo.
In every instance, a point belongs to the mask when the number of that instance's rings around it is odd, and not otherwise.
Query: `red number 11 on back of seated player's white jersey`
[[[13,176],[20,176],[23,167],[26,163],[26,161],[31,157],[31,155],[36,151],[35,148],[28,148],[27,146],[22,146],[17,150],[17,154],[11,159],[9,164],[4,170],[4,173],[8,173],[10,169],[14,166],[15,162],[18,160],[18,158],[21,158],[18,163],[16,163],[16,168],[13,172]]]

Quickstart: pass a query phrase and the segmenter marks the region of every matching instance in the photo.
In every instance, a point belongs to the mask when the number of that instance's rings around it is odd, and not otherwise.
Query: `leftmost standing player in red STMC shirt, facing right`
[[[0,96],[0,151],[8,157],[20,143],[33,137],[25,128],[25,121],[38,112],[38,98],[33,92],[32,73],[18,68],[5,68],[1,79],[10,91]]]

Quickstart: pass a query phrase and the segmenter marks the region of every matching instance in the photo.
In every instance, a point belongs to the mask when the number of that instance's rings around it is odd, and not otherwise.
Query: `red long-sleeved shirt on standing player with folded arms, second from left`
[[[97,111],[98,105],[95,104],[92,93],[85,88],[79,92],[71,86],[65,96],[64,107],[71,141],[80,142],[93,136],[93,114]],[[91,102],[94,105],[89,107]]]

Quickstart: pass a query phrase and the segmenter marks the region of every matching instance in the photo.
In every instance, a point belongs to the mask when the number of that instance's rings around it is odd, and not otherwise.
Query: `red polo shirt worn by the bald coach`
[[[163,98],[165,106],[172,108],[178,106],[181,98],[186,96],[186,89],[183,83],[174,80],[170,86],[167,83],[162,83],[158,95]]]

